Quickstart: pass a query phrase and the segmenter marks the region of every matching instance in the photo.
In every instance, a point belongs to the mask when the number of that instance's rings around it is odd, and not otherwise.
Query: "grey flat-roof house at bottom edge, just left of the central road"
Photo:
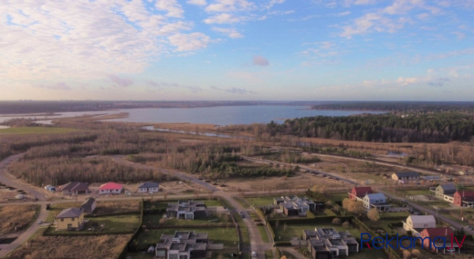
[[[155,247],[156,258],[190,259],[206,258],[207,233],[175,231],[173,235],[161,235]]]

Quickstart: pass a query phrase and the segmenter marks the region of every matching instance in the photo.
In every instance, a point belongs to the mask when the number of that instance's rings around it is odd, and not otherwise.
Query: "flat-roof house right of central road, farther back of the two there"
[[[314,211],[323,206],[306,197],[298,196],[282,196],[274,198],[273,202],[275,205],[280,205],[280,209],[287,216],[306,216],[308,210]]]

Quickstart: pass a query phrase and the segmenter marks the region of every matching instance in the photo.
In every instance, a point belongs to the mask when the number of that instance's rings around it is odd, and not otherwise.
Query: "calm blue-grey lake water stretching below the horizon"
[[[255,106],[219,106],[208,108],[143,108],[122,109],[96,112],[61,113],[59,116],[35,116],[37,120],[52,120],[59,117],[79,115],[129,113],[129,117],[110,120],[116,122],[190,122],[214,125],[236,125],[251,123],[268,123],[272,120],[282,123],[295,117],[316,115],[345,116],[360,113],[382,113],[357,110],[308,110],[305,106],[255,105]],[[0,117],[0,122],[21,115]],[[47,123],[47,122],[46,122]]]

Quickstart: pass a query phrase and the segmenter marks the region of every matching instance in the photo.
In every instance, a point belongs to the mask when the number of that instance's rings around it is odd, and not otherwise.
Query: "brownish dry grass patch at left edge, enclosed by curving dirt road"
[[[0,207],[0,233],[7,234],[28,226],[35,217],[37,205],[6,205]]]

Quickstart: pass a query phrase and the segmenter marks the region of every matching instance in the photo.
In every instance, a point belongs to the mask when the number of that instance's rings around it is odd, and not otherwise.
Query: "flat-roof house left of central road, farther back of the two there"
[[[180,200],[168,203],[166,217],[176,219],[197,219],[206,217],[206,205],[202,200]]]

